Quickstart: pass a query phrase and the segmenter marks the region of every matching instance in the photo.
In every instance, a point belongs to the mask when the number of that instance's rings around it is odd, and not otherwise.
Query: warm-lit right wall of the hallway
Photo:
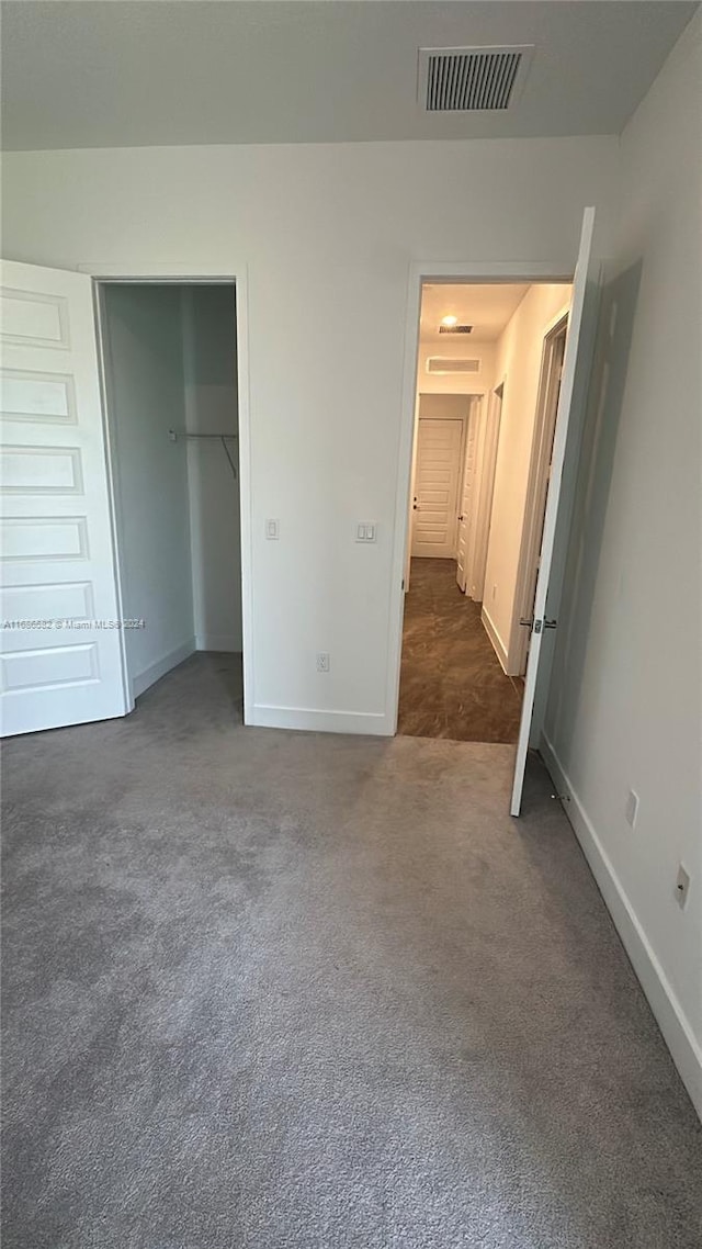
[[[520,657],[511,651],[512,620],[527,498],[543,335],[570,301],[571,287],[530,286],[500,335],[495,352],[495,385],[505,383],[495,493],[485,571],[483,620],[505,669],[518,674]]]

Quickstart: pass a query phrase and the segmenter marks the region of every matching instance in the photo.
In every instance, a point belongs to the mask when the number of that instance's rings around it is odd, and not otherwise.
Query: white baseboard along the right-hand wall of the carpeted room
[[[615,921],[615,927],[648,999],[648,1005],[656,1017],[673,1063],[697,1114],[702,1119],[702,1048],[692,1033],[685,1010],[656,958],[582,802],[563,771],[553,746],[543,733],[541,734],[540,751],[556,788],[570,796],[571,801],[563,808],[566,816]]]

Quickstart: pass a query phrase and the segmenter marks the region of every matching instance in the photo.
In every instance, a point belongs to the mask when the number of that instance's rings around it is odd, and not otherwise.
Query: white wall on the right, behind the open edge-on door
[[[702,1113],[701,81],[698,14],[621,140],[546,751]]]

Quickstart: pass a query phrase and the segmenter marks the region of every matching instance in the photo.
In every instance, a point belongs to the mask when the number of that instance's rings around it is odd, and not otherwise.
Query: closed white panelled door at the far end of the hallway
[[[463,422],[420,420],[412,501],[412,556],[456,558]]]

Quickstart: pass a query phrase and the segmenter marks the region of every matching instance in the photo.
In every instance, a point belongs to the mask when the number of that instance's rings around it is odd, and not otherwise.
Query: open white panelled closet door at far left
[[[124,716],[91,280],[0,267],[4,736]]]

